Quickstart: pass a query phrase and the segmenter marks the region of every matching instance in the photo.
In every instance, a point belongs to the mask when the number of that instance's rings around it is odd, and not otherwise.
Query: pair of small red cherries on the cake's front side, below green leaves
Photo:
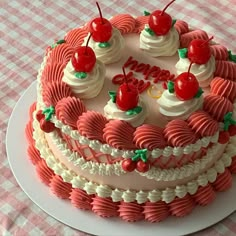
[[[135,169],[139,172],[147,172],[150,169],[149,161],[133,161],[131,158],[122,161],[122,169],[127,172],[132,172]]]

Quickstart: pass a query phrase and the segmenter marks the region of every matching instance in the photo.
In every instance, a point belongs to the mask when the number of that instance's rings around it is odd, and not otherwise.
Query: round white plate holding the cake
[[[26,90],[17,102],[9,120],[6,147],[11,170],[29,198],[52,217],[75,229],[95,235],[165,235],[176,236],[209,227],[236,210],[236,177],[233,187],[217,193],[216,200],[206,207],[197,206],[192,214],[183,218],[169,217],[161,223],[126,223],[118,218],[103,219],[74,208],[69,201],[54,196],[36,176],[34,166],[27,157],[27,141],[24,129],[28,122],[28,110],[36,101],[36,82]]]

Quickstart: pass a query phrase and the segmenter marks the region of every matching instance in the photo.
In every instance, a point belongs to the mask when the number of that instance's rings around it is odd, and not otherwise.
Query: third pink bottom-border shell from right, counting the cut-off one
[[[199,186],[197,192],[194,194],[193,197],[197,204],[205,206],[215,200],[216,193],[212,188],[211,184],[208,184],[204,187]]]

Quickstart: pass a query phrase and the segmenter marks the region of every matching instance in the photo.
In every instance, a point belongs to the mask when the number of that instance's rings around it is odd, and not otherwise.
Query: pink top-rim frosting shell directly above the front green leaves
[[[163,135],[163,128],[155,125],[144,124],[134,132],[134,142],[138,148],[164,148],[166,141]]]

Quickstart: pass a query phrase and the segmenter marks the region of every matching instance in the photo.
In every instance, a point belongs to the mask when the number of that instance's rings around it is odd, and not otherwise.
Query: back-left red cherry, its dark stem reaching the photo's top
[[[91,21],[89,31],[92,33],[92,38],[95,42],[108,42],[112,36],[112,25],[106,18],[102,17],[101,8],[98,2],[96,4],[100,17]]]

